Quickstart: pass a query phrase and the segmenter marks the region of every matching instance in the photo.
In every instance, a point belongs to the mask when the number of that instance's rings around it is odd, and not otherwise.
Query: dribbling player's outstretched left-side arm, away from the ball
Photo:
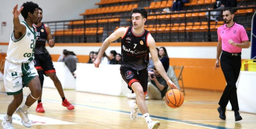
[[[94,61],[94,66],[96,68],[99,67],[100,65],[100,61],[101,61],[101,57],[103,55],[103,53],[107,50],[109,44],[113,41],[115,41],[116,39],[119,39],[120,37],[123,37],[125,32],[126,32],[127,28],[118,28],[115,32],[113,32],[108,38],[105,39],[105,41],[103,42],[103,44],[100,47],[100,51],[97,55],[96,60]]]

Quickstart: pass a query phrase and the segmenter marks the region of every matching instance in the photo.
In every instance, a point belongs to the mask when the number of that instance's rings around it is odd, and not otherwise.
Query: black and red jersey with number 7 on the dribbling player
[[[126,34],[122,37],[121,65],[134,70],[146,69],[149,64],[149,47],[147,44],[149,31],[144,30],[141,35],[136,36],[132,29],[132,26],[129,27]]]

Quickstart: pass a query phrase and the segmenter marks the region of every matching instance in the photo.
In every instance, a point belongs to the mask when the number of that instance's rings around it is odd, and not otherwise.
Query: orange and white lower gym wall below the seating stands
[[[213,42],[201,43],[156,43],[157,47],[165,46],[170,58],[171,66],[184,66],[183,80],[185,88],[206,90],[224,90],[225,79],[221,69],[215,70],[216,45]],[[77,54],[79,62],[87,62],[90,51],[98,51],[101,43],[87,44],[56,44],[53,48],[47,46],[47,50],[53,61],[57,61],[63,49]],[[121,53],[121,44],[112,43],[106,50],[109,55],[111,50]],[[0,51],[6,53],[7,44],[0,43]],[[250,59],[251,49],[242,50],[242,59]],[[176,73],[177,75],[178,73]]]

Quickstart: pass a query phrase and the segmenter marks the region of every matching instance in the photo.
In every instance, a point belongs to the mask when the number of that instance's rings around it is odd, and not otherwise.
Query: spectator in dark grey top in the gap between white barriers
[[[69,71],[72,73],[72,75],[74,76],[74,71],[76,70],[76,63],[77,60],[74,58],[73,55],[69,54],[68,51],[63,52],[64,57],[65,57],[65,64],[68,67]]]

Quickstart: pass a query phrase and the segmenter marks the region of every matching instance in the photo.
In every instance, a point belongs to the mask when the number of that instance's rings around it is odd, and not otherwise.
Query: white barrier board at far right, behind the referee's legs
[[[256,114],[256,72],[241,71],[236,87],[239,110]],[[232,109],[230,102],[227,109]]]

